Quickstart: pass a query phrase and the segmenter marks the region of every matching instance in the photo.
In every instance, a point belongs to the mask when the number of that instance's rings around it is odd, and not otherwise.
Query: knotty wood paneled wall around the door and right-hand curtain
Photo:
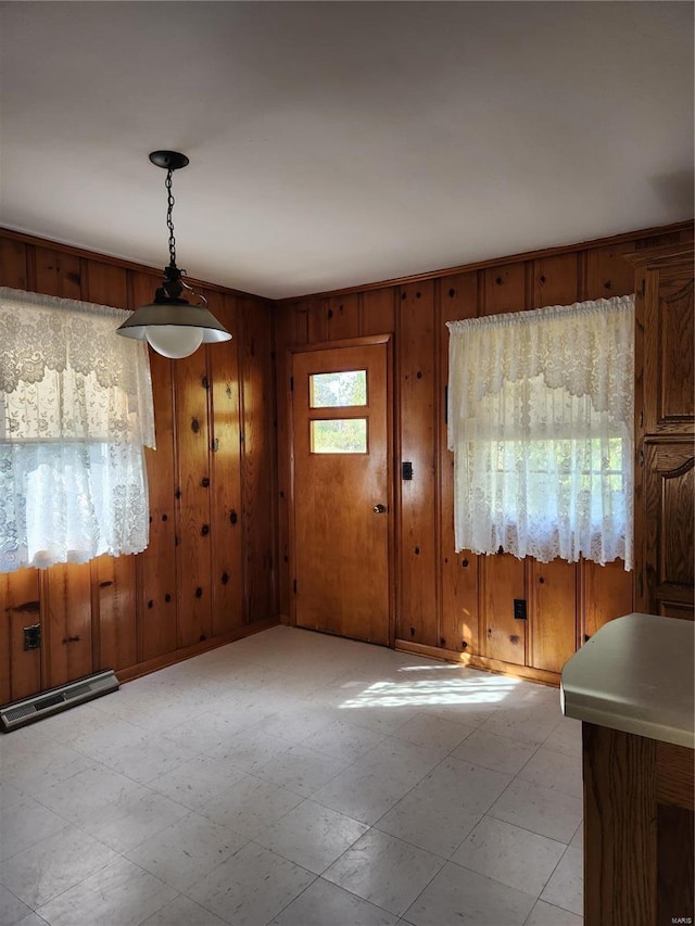
[[[281,619],[292,622],[287,347],[392,333],[396,356],[394,472],[413,464],[396,491],[396,646],[557,682],[567,658],[607,620],[632,610],[632,576],[606,567],[542,565],[502,554],[456,554],[453,455],[446,449],[445,322],[567,305],[634,291],[623,255],[692,236],[692,223],[570,248],[460,267],[446,274],[277,304],[279,543]],[[526,598],[528,620],[513,599]],[[463,654],[463,655],[462,655]],[[470,657],[469,657],[470,655]]]

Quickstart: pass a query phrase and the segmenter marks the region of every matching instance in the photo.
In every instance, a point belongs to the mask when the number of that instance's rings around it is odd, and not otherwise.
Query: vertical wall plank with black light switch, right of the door
[[[397,329],[401,464],[413,464],[413,479],[400,479],[401,596],[396,637],[437,646],[437,494],[434,284],[401,289]]]

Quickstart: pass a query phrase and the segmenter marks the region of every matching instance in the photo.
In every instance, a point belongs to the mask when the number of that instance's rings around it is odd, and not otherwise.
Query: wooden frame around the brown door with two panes
[[[384,344],[387,348],[387,460],[389,469],[387,472],[387,505],[388,505],[388,555],[387,555],[387,581],[388,581],[388,626],[389,647],[395,648],[395,602],[396,602],[396,571],[395,571],[395,538],[396,538],[396,505],[394,492],[395,473],[395,440],[394,440],[394,392],[393,392],[393,335],[369,334],[364,338],[342,338],[336,341],[320,341],[315,344],[291,344],[287,348],[287,369],[290,377],[294,370],[294,355],[309,354],[318,351],[336,351],[341,347],[369,347]],[[289,384],[288,384],[289,385]],[[290,497],[288,499],[289,520],[289,568],[290,568],[290,626],[296,626],[296,597],[294,582],[296,580],[296,538],[295,538],[295,492],[294,492],[294,407],[293,392],[287,390],[287,421],[288,421],[288,456],[290,464]]]

